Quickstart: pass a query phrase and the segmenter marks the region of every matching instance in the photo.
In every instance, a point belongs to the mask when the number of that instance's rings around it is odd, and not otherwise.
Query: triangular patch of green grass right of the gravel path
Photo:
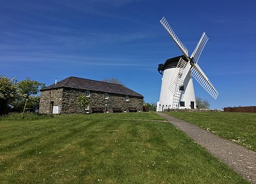
[[[256,151],[256,113],[168,113]]]

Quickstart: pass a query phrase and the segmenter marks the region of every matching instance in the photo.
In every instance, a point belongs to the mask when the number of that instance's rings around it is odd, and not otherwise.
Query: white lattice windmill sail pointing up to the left
[[[183,45],[181,40],[178,39],[178,36],[174,33],[174,30],[171,29],[171,26],[166,21],[166,18],[163,17],[160,20],[160,23],[161,23],[161,25],[164,26],[164,28],[167,30],[167,32],[171,35],[171,38],[174,40],[174,42],[176,42],[178,47],[181,49],[181,52],[183,52],[184,56],[186,56],[186,58],[188,60],[190,60],[190,58],[188,57],[188,49],[185,47],[185,45]]]

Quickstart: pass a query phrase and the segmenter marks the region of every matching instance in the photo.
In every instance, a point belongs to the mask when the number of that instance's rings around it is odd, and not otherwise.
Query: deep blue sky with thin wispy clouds
[[[164,16],[190,55],[208,35],[198,64],[219,96],[193,80],[197,97],[210,108],[256,105],[255,7],[255,0],[3,0],[0,76],[47,86],[68,76],[114,77],[156,103],[158,64],[182,54],[159,23]]]

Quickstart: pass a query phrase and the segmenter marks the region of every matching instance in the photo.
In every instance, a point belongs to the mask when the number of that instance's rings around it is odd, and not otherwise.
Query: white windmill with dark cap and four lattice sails
[[[176,42],[176,45],[178,45],[181,52],[183,52],[183,55],[167,59],[164,64],[159,64],[158,71],[160,74],[163,74],[163,78],[156,110],[164,111],[169,108],[195,108],[196,97],[191,76],[201,84],[210,96],[216,99],[218,91],[214,88],[213,84],[210,83],[206,74],[203,73],[202,69],[197,64],[203,47],[208,41],[206,33],[203,33],[198,45],[196,45],[196,49],[191,54],[191,57],[189,57],[185,45],[178,39],[166,19],[162,18],[160,23],[171,35],[171,38]]]

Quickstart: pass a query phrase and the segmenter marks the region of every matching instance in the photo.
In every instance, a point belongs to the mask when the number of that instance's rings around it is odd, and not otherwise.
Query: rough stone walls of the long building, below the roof
[[[52,113],[52,104],[59,105],[60,113],[85,113],[86,110],[80,108],[77,103],[78,97],[85,93],[85,90],[73,88],[52,89],[41,91],[41,100],[39,113]],[[129,108],[143,110],[143,98],[129,96],[126,101],[125,95],[108,93],[108,99],[105,99],[105,93],[90,91],[90,112],[92,108],[100,108],[103,112],[113,112],[113,108],[129,111]]]

